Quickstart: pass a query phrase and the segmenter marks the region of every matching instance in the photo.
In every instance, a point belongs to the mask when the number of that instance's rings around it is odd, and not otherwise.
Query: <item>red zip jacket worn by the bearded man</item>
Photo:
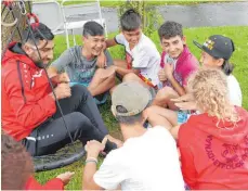
[[[17,53],[16,53],[17,52]],[[56,111],[43,69],[12,43],[2,60],[2,128],[17,141]]]

